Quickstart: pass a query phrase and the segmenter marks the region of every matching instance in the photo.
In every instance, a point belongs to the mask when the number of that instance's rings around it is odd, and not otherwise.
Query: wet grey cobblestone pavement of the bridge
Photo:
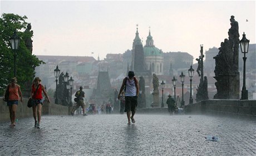
[[[42,116],[0,125],[0,155],[256,155],[255,119],[212,116]],[[213,134],[218,142],[206,141]]]

